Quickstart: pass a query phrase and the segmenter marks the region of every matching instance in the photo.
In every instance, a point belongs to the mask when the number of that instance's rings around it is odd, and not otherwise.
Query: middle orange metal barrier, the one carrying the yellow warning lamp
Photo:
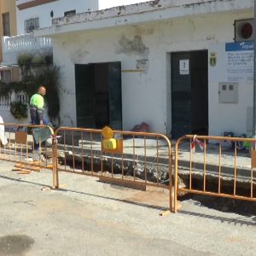
[[[55,131],[54,187],[59,172],[72,172],[123,184],[170,190],[172,210],[172,148],[157,133],[113,131],[117,148],[102,148],[102,130],[61,127]]]

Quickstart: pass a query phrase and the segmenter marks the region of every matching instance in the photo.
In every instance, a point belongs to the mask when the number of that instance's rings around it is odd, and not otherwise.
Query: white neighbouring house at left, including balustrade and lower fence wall
[[[52,52],[51,39],[35,38],[33,35],[35,29],[51,26],[52,19],[56,17],[65,16],[68,19],[80,12],[98,9],[97,0],[17,0],[13,4],[13,9],[16,10],[17,35],[12,33],[12,36],[2,38],[3,62],[0,68],[4,71],[1,79],[7,77],[6,73],[11,73],[11,79],[5,82],[19,77],[16,64],[20,54]],[[18,99],[20,95],[15,93],[11,96],[0,96],[0,113],[5,122],[17,121],[10,114],[9,107],[10,102]],[[24,119],[22,122],[29,122],[29,119]]]

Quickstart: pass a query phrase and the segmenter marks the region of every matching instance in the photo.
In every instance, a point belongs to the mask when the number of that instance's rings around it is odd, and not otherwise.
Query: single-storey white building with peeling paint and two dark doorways
[[[131,130],[146,122],[173,137],[247,133],[253,4],[159,0],[53,19],[35,34],[54,42],[61,124]]]

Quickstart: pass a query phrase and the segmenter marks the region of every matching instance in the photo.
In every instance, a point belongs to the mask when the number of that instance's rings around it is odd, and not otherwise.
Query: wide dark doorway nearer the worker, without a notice
[[[79,127],[122,129],[120,62],[76,64],[76,106]]]

